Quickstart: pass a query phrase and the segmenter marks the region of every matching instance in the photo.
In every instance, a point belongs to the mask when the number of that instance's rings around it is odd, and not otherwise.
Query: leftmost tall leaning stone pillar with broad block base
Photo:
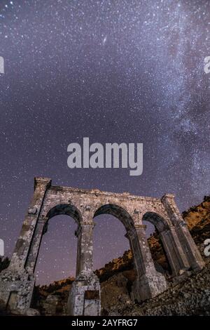
[[[34,196],[25,216],[10,265],[0,275],[0,300],[5,303],[6,308],[20,314],[24,314],[31,305],[35,280],[33,272],[29,274],[25,266],[45,192],[50,183],[51,180],[48,178],[34,179]]]

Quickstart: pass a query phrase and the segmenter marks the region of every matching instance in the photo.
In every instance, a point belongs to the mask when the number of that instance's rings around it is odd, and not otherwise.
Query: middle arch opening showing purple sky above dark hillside
[[[127,211],[115,204],[99,207],[93,219],[94,269],[101,283],[102,315],[106,315],[108,310],[116,308],[118,298],[130,300],[137,274],[126,234],[134,224]],[[118,298],[115,300],[113,296]]]

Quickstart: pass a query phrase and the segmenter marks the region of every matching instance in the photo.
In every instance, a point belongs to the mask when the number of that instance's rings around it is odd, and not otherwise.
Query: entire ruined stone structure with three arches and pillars
[[[75,233],[78,237],[76,280],[69,292],[69,315],[100,315],[100,285],[92,263],[92,230],[94,217],[103,213],[116,216],[125,226],[125,237],[129,239],[137,271],[132,287],[133,299],[144,301],[167,289],[164,275],[155,270],[143,220],[150,221],[158,230],[174,279],[203,268],[200,252],[172,194],[158,199],[129,193],[82,190],[52,186],[49,178],[38,177],[34,179],[34,196],[10,265],[0,274],[0,299],[5,308],[20,314],[31,308],[34,269],[48,220],[66,214],[78,224]]]

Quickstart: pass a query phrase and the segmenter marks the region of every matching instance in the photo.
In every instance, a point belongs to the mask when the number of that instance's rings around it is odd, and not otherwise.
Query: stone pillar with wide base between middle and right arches
[[[153,298],[167,289],[165,277],[155,270],[146,239],[145,227],[144,225],[135,225],[126,235],[130,241],[137,270],[137,279],[132,286],[132,298],[139,302]]]

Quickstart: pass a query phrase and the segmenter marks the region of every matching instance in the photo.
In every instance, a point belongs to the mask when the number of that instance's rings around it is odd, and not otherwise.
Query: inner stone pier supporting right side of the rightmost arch
[[[175,227],[170,226],[169,229],[160,232],[159,236],[172,268],[172,276],[182,275],[190,265],[176,235]]]

